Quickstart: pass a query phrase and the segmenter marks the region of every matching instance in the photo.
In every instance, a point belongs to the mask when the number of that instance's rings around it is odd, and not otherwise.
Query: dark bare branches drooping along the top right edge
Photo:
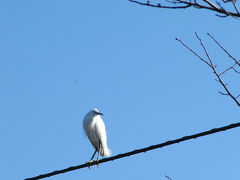
[[[159,3],[153,4],[150,3],[149,0],[145,1],[139,1],[139,0],[128,0],[132,3],[139,4],[142,6],[149,6],[149,7],[155,7],[155,8],[162,8],[162,9],[186,9],[186,8],[196,8],[196,9],[206,9],[209,11],[216,12],[216,16],[218,17],[234,17],[234,18],[240,18],[240,12],[237,8],[237,4],[235,0],[228,0],[224,1],[222,0],[222,5],[220,2],[216,2],[214,4],[210,0],[159,0]],[[161,3],[160,3],[161,2]],[[225,3],[231,2],[232,8],[227,6],[230,10],[227,10],[224,8]],[[233,9],[233,10],[232,10]]]

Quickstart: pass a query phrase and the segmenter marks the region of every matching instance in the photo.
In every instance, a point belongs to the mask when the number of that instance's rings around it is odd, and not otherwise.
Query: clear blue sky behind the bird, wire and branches
[[[113,155],[238,122],[212,72],[174,38],[202,52],[197,31],[221,65],[230,59],[206,33],[240,57],[239,23],[127,0],[1,1],[0,179],[88,161],[82,119],[92,108]],[[239,179],[239,138],[234,129],[49,179]]]

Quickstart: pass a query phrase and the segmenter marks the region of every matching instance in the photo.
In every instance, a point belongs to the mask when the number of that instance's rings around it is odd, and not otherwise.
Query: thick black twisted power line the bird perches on
[[[32,177],[32,178],[26,178],[25,180],[43,179],[43,178],[54,176],[54,175],[57,175],[57,174],[73,171],[73,170],[76,170],[76,169],[81,169],[81,168],[89,167],[89,166],[92,166],[92,165],[101,164],[101,163],[104,163],[104,162],[124,158],[124,157],[127,157],[127,156],[132,156],[134,154],[139,154],[139,153],[150,151],[150,150],[153,150],[153,149],[163,148],[165,146],[170,146],[172,144],[180,143],[180,142],[183,142],[183,141],[188,141],[190,139],[195,139],[195,138],[198,138],[198,137],[207,136],[207,135],[218,133],[218,132],[221,132],[221,131],[226,131],[226,130],[233,129],[233,128],[236,128],[236,127],[239,127],[239,126],[240,126],[240,122],[233,123],[233,124],[223,126],[223,127],[220,127],[220,128],[214,128],[214,129],[204,131],[204,132],[200,132],[200,133],[197,133],[197,134],[184,136],[182,138],[166,141],[166,142],[161,143],[161,144],[156,144],[156,145],[152,145],[152,146],[149,146],[149,147],[136,149],[134,151],[130,151],[130,152],[127,152],[127,153],[118,154],[116,156],[112,156],[112,157],[109,157],[109,158],[103,158],[103,159],[99,160],[98,162],[93,161],[91,163],[85,163],[85,164],[81,164],[81,165],[78,165],[78,166],[71,166],[71,167],[68,167],[66,169],[53,171],[51,173],[41,174],[39,176]]]

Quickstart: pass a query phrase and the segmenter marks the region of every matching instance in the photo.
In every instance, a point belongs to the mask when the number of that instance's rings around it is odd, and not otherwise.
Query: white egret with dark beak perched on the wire
[[[103,114],[98,112],[97,109],[93,109],[83,119],[83,129],[95,149],[90,162],[93,160],[96,152],[98,152],[97,161],[99,160],[99,154],[102,157],[111,155],[111,150],[107,146],[105,124],[100,115]]]

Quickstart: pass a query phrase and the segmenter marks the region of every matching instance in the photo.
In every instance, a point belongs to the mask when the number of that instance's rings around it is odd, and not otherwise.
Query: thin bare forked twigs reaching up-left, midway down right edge
[[[197,33],[195,33],[197,39],[200,42],[201,47],[203,48],[205,55],[207,56],[207,59],[204,59],[202,56],[200,56],[196,51],[194,51],[192,48],[190,48],[189,46],[187,46],[185,43],[183,43],[180,39],[176,38],[177,41],[179,41],[185,48],[187,48],[189,51],[191,51],[195,56],[197,56],[202,62],[204,62],[205,64],[207,64],[212,70],[213,73],[216,75],[217,79],[216,81],[219,82],[221,84],[221,86],[224,88],[224,90],[226,91],[226,93],[223,92],[219,92],[221,95],[226,95],[226,96],[230,96],[235,103],[240,106],[240,102],[238,100],[239,95],[234,96],[233,93],[231,92],[231,90],[228,88],[227,84],[224,83],[223,79],[222,79],[222,75],[226,74],[226,72],[228,72],[229,70],[234,70],[234,72],[239,74],[239,71],[235,69],[235,66],[238,65],[238,67],[240,67],[240,60],[237,61],[236,58],[234,58],[225,48],[223,48],[223,46],[209,33],[207,33],[208,36],[210,36],[214,42],[232,59],[234,60],[234,64],[231,65],[230,67],[226,68],[223,72],[219,73],[217,72],[217,66],[213,63],[212,59],[209,56],[209,53],[207,51],[207,48],[205,47],[205,45],[203,44],[202,40],[200,39],[200,37],[198,36]]]

